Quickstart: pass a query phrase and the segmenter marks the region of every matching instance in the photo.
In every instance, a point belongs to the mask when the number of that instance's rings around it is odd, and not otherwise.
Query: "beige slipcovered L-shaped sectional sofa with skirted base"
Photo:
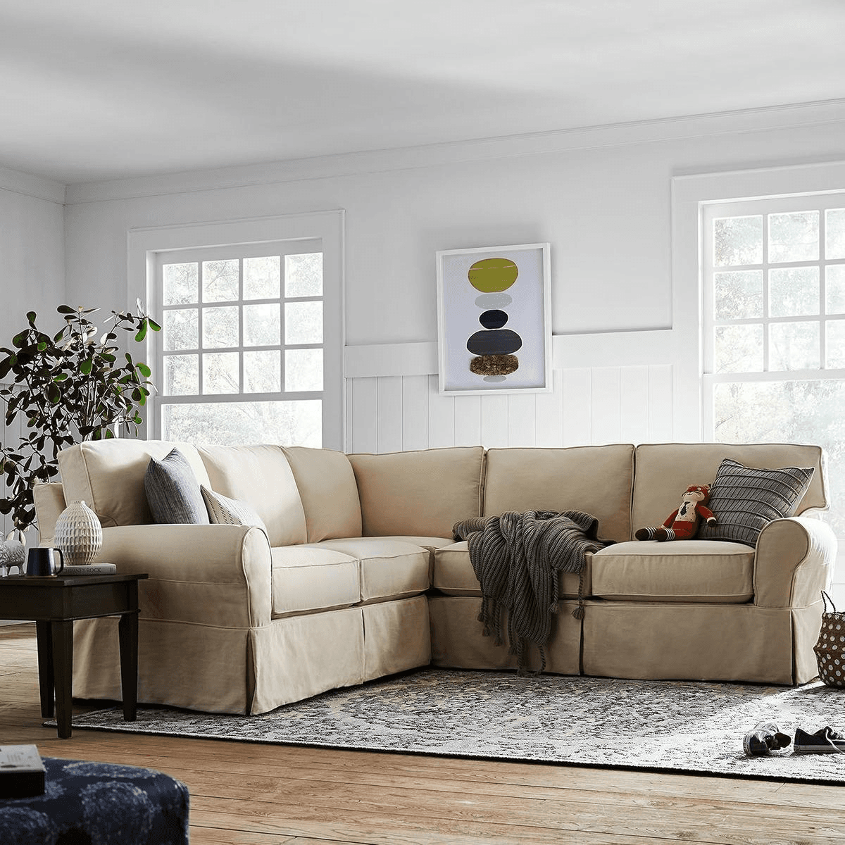
[[[61,484],[35,489],[41,545],[66,501],[100,516],[99,559],[140,583],[139,701],[261,713],[335,687],[426,666],[506,668],[482,636],[478,582],[451,528],[504,510],[582,510],[617,541],[591,555],[584,619],[578,576],[562,575],[548,671],[620,678],[800,684],[815,676],[820,590],[836,539],[821,451],[789,444],[630,444],[568,449],[480,446],[344,455],[330,450],[194,446],[198,481],[252,504],[254,526],[153,525],[150,456],[174,444],[108,440],[60,455]],[[756,548],[735,542],[631,542],[659,525],[724,457],[813,466],[797,515]],[[74,695],[120,698],[117,619],[78,622]]]

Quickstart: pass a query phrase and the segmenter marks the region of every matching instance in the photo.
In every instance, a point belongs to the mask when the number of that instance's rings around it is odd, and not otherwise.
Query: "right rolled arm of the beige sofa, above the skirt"
[[[754,603],[760,608],[806,608],[830,585],[837,538],[808,516],[770,522],[757,539]]]

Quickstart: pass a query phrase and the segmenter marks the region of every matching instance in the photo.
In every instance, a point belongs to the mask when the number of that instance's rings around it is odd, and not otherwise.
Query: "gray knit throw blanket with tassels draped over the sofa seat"
[[[528,671],[527,644],[540,652],[546,668],[545,646],[558,611],[559,572],[581,575],[575,619],[584,616],[581,588],[586,553],[597,552],[612,540],[598,539],[598,520],[580,510],[505,511],[501,516],[474,516],[456,522],[455,540],[466,540],[472,569],[482,591],[484,635],[502,645],[502,613],[508,613],[510,653],[519,673]]]

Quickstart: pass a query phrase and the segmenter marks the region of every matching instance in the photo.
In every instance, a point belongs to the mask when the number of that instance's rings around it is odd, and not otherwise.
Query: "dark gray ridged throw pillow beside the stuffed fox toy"
[[[755,546],[772,520],[792,516],[810,486],[812,466],[760,470],[725,458],[710,488],[708,506],[716,525],[702,523],[700,540],[731,540]]]

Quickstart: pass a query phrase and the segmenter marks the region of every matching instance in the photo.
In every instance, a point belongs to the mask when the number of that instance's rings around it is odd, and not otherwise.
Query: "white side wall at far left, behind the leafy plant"
[[[56,183],[0,168],[0,346],[26,327],[35,311],[39,325],[58,328],[56,306],[64,300],[64,188]],[[3,356],[4,357],[4,356]],[[0,400],[3,444],[17,440],[19,424],[6,431]],[[11,437],[10,437],[11,435]],[[0,497],[5,476],[0,477]],[[0,530],[10,530],[0,516]]]

